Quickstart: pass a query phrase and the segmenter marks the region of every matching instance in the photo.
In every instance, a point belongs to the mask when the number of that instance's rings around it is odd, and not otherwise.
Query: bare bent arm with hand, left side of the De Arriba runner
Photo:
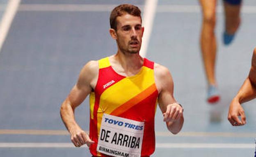
[[[80,147],[83,144],[94,143],[84,130],[75,121],[75,108],[79,106],[92,91],[94,84],[96,84],[95,78],[98,76],[98,62],[90,61],[81,70],[78,82],[71,89],[71,92],[66,97],[66,100],[61,105],[60,115],[66,128],[71,135],[71,141],[76,147]]]

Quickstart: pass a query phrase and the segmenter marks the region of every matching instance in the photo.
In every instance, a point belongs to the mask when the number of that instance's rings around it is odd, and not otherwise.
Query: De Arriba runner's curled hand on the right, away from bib
[[[176,120],[180,119],[183,114],[183,108],[177,104],[169,104],[167,105],[166,112],[164,115],[165,122],[175,122]]]

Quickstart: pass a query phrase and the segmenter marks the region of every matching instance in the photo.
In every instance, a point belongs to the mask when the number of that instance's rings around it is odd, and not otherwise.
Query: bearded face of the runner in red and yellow
[[[142,43],[141,18],[128,13],[117,17],[117,45],[123,53],[138,53]]]

